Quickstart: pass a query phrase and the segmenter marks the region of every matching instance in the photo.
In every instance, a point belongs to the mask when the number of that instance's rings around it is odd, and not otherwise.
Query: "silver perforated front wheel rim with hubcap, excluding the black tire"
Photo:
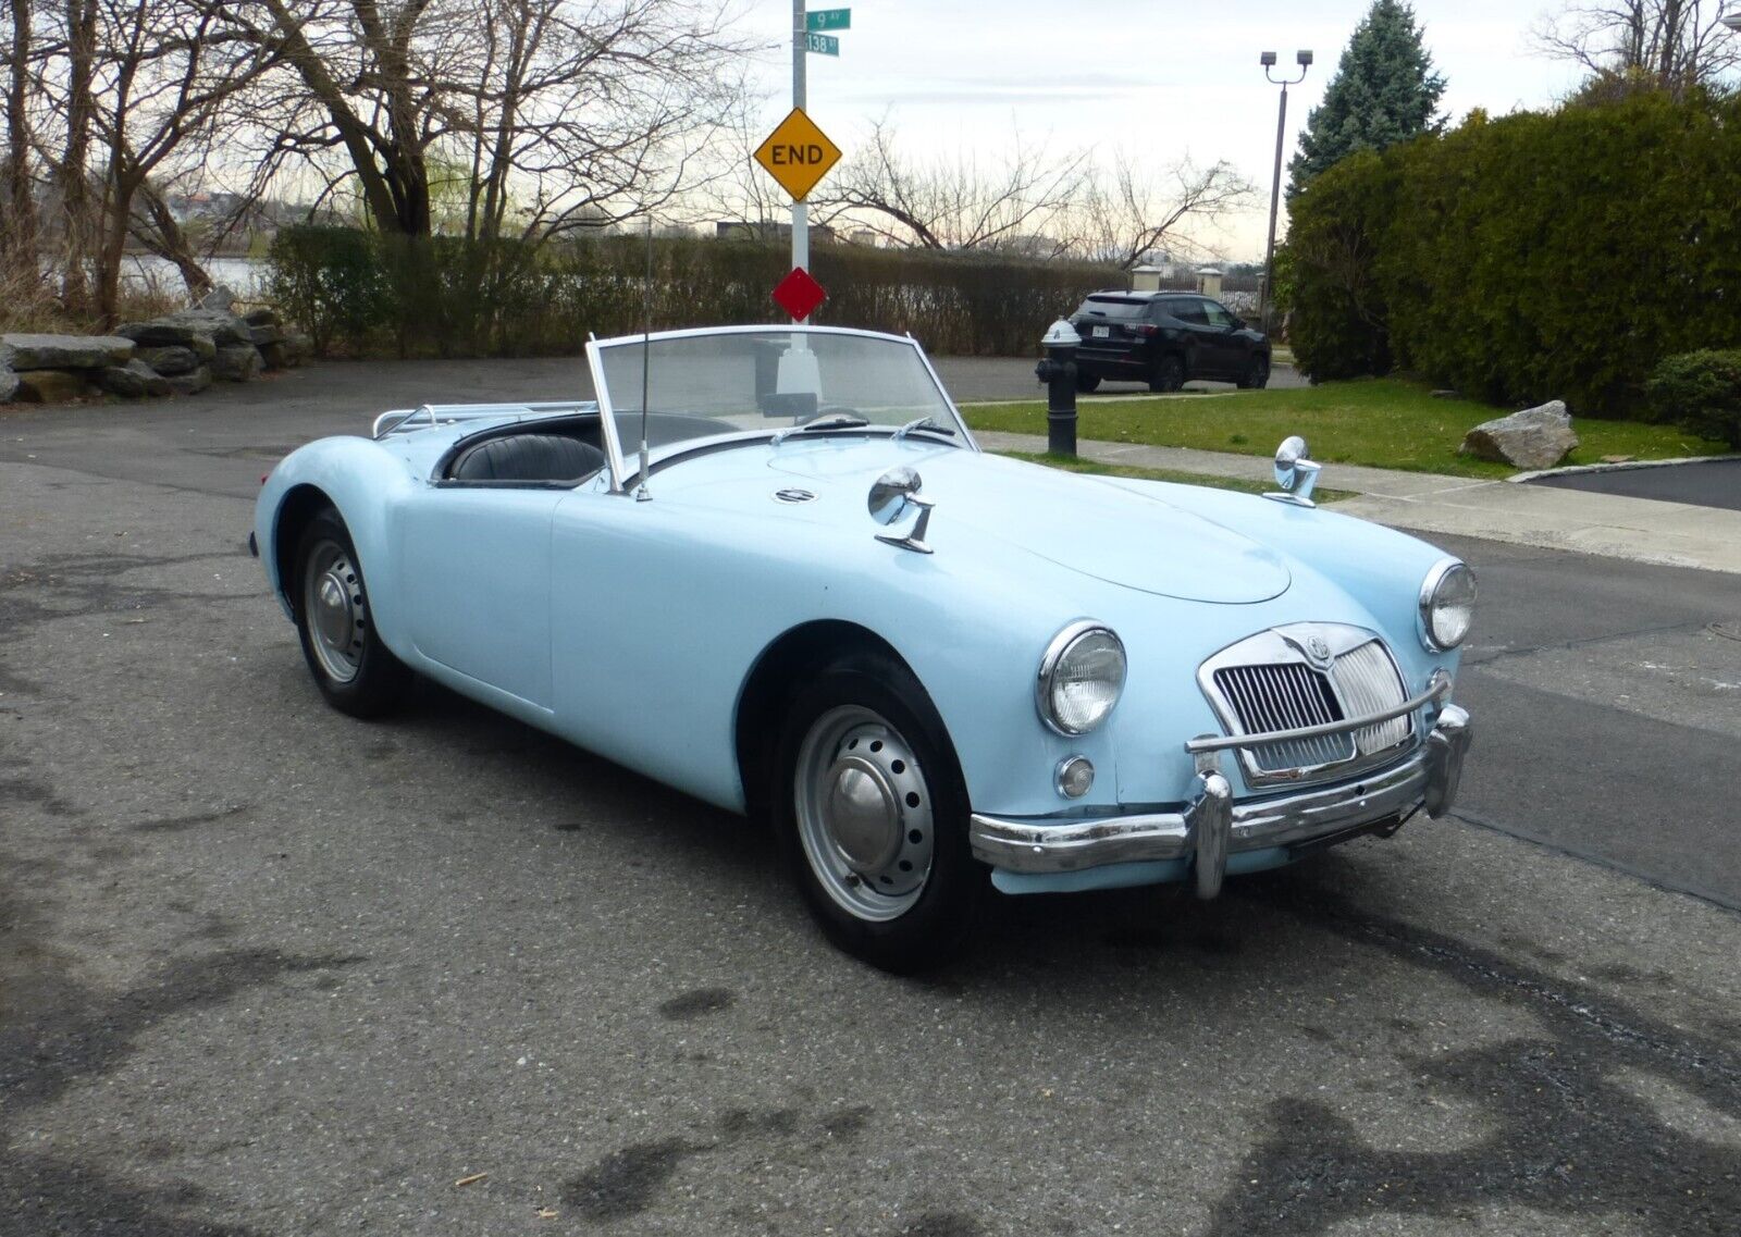
[[[797,752],[794,802],[822,887],[867,920],[905,913],[931,873],[931,793],[912,748],[858,705],[817,719]]]

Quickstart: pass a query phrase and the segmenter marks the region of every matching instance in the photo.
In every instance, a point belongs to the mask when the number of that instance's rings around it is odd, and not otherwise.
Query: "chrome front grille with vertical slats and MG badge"
[[[1198,679],[1229,734],[1334,725],[1408,699],[1396,663],[1372,632],[1327,623],[1240,640],[1203,663]],[[1414,738],[1414,717],[1403,715],[1341,734],[1254,743],[1240,748],[1240,759],[1252,785],[1299,781],[1382,764]]]

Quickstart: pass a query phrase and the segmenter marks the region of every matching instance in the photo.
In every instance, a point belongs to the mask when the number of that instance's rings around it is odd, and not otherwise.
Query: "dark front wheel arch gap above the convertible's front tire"
[[[733,720],[738,778],[743,783],[743,804],[750,818],[770,819],[768,786],[778,759],[780,717],[787,701],[808,675],[853,654],[884,658],[912,675],[921,691],[924,689],[895,645],[870,628],[844,619],[801,623],[783,632],[756,658],[738,692]],[[931,708],[935,712],[935,705]]]

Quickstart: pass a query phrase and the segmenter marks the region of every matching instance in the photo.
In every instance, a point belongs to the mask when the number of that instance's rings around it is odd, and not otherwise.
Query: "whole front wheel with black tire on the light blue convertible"
[[[804,684],[771,792],[780,847],[829,939],[897,974],[961,952],[987,868],[968,847],[954,746],[905,666],[851,656]]]

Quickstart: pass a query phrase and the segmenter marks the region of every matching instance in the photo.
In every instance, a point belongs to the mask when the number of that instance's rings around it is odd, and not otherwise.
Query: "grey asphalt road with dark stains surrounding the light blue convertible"
[[[754,828],[308,682],[259,473],[540,365],[0,416],[0,1234],[1734,1232],[1732,578],[1459,545],[1462,819],[900,981]]]

